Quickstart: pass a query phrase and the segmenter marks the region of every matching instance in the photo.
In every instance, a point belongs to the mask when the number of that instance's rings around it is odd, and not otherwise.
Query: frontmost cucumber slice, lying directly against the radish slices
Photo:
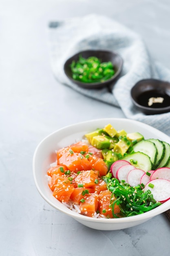
[[[121,160],[128,161],[136,168],[145,172],[152,170],[152,162],[150,161],[150,157],[142,152],[128,154],[122,157]]]

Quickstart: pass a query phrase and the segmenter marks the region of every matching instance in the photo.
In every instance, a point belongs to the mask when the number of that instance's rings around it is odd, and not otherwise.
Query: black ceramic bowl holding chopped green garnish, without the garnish
[[[101,62],[108,62],[111,61],[113,63],[115,74],[110,79],[104,81],[104,82],[97,82],[97,83],[83,83],[81,81],[77,81],[72,78],[72,72],[71,72],[71,63],[72,61],[78,61],[79,55],[81,55],[83,58],[88,58],[91,56],[95,56],[101,60]],[[88,88],[88,89],[94,89],[94,88],[102,88],[111,82],[113,82],[117,76],[119,76],[121,70],[122,70],[123,60],[119,54],[115,52],[109,52],[109,51],[103,51],[103,50],[87,50],[78,52],[77,54],[73,55],[71,58],[69,58],[65,64],[64,64],[64,72],[68,79],[70,79],[73,83],[76,83],[80,87]]]

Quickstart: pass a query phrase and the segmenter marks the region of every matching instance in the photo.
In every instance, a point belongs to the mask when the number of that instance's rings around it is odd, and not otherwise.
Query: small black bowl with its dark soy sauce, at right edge
[[[157,79],[144,79],[131,89],[132,102],[146,115],[170,111],[170,83]]]

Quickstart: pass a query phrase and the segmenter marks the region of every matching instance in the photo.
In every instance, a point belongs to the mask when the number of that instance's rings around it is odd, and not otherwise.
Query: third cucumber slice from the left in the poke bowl
[[[154,165],[154,169],[156,169],[165,155],[165,145],[159,139],[148,139],[148,141],[153,142],[158,151],[157,159],[156,159],[155,165]]]

